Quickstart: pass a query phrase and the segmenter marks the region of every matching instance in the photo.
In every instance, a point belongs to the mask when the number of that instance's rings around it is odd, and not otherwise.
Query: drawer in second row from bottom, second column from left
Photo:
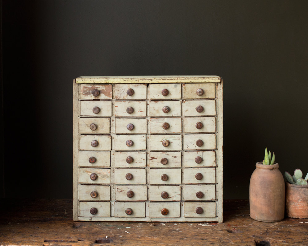
[[[117,201],[146,201],[146,185],[116,185],[115,199]]]

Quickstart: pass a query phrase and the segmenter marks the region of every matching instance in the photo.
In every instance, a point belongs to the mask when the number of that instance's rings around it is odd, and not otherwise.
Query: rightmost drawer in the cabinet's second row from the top
[[[184,100],[182,107],[184,116],[216,115],[215,100]]]

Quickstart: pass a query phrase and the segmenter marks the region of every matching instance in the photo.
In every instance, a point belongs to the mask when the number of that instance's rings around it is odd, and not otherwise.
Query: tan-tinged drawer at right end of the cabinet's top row
[[[215,98],[215,84],[183,84],[183,98],[184,99],[203,99]]]

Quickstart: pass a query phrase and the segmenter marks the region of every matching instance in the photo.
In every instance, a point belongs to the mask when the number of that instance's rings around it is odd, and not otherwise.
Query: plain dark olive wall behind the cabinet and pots
[[[307,9],[293,0],[3,0],[5,196],[72,197],[81,75],[222,76],[224,198],[248,198],[266,146],[281,172],[306,174]]]

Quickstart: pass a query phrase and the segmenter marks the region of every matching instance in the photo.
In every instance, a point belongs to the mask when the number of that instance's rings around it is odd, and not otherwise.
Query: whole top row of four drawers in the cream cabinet
[[[148,87],[147,84],[114,84],[112,90],[112,84],[81,84],[79,98],[122,100],[215,98],[214,83],[149,84]]]

